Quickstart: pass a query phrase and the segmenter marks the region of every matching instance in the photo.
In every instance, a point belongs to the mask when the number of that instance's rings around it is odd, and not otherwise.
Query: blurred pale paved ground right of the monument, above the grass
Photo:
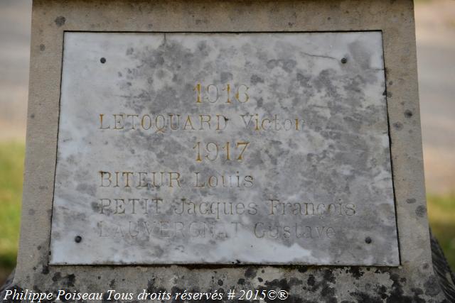
[[[416,6],[427,192],[455,192],[455,1]]]

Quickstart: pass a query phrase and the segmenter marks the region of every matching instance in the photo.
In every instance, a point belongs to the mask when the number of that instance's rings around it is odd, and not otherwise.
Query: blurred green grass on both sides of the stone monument
[[[0,285],[16,265],[23,180],[24,144],[0,142]],[[428,215],[452,270],[455,269],[455,194],[429,194]]]

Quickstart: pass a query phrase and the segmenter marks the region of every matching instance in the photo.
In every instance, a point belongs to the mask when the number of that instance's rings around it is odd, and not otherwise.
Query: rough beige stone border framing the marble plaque
[[[63,31],[378,30],[384,45],[400,267],[49,265]],[[113,287],[130,292],[280,288],[289,290],[289,302],[448,302],[429,249],[412,1],[38,0],[33,3],[31,57],[23,217],[13,287],[100,292]],[[405,119],[405,111],[412,117]]]

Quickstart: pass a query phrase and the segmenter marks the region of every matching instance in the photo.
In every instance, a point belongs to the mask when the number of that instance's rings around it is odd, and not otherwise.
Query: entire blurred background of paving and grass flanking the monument
[[[455,0],[415,1],[430,225],[455,270]],[[0,285],[16,265],[31,1],[0,0]]]

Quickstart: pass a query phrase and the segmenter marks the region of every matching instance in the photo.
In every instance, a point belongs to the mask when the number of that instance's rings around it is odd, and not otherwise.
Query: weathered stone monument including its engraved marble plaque
[[[33,292],[448,300],[412,1],[33,1],[21,243],[2,299]]]

